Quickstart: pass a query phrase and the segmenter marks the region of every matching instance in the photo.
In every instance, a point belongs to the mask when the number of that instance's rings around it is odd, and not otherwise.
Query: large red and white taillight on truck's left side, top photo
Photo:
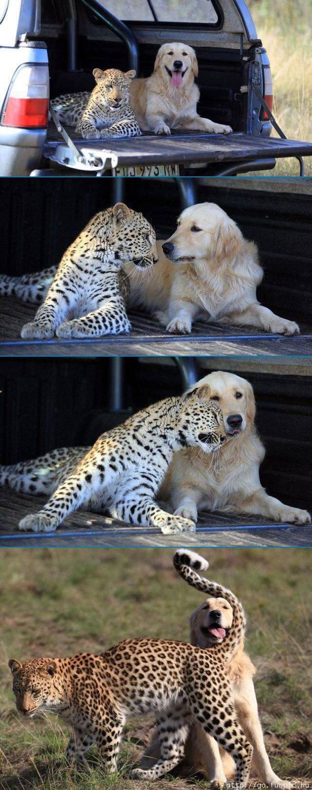
[[[22,66],[14,74],[2,114],[3,126],[45,128],[49,112],[47,66]]]

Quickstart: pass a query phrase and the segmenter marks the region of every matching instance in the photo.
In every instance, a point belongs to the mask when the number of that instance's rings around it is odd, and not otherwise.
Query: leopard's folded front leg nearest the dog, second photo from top
[[[102,301],[102,299],[101,299]],[[120,297],[106,299],[102,307],[93,310],[82,318],[65,321],[56,330],[58,337],[101,337],[130,332],[131,324]]]

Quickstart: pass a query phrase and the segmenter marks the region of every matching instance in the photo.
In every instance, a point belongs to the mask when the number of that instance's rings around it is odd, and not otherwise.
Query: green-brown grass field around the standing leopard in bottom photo
[[[211,577],[231,587],[247,611],[247,650],[258,668],[256,691],[273,768],[284,778],[311,779],[310,551],[202,554],[210,557]],[[96,756],[90,774],[72,774],[63,761],[65,725],[55,717],[19,716],[7,661],[99,652],[134,636],[187,641],[188,615],[202,596],[177,576],[172,551],[8,549],[0,562],[2,790],[155,787],[127,778],[127,766],[147,743],[149,722],[128,724],[117,775],[105,777]],[[158,788],[181,790],[186,784],[169,777]]]

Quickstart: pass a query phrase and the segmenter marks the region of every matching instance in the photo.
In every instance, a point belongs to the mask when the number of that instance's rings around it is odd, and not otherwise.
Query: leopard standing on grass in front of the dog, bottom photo
[[[218,585],[209,584],[217,593]],[[234,618],[228,639],[233,650],[242,627],[242,617]],[[17,709],[24,717],[41,711],[59,713],[72,726],[68,762],[87,763],[84,754],[95,743],[106,769],[115,771],[128,717],[155,713],[161,758],[147,771],[133,769],[131,777],[159,779],[183,758],[195,717],[232,755],[236,781],[247,782],[252,747],[236,719],[221,650],[163,639],[127,639],[98,656],[80,653],[70,658],[37,658],[24,664],[11,659],[9,668]]]

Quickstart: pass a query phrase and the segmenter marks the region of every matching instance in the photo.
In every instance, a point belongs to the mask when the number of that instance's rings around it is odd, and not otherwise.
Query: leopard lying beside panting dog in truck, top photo
[[[130,103],[130,85],[136,72],[94,69],[93,91],[67,93],[51,100],[61,123],[75,126],[84,140],[136,137],[141,133]]]

